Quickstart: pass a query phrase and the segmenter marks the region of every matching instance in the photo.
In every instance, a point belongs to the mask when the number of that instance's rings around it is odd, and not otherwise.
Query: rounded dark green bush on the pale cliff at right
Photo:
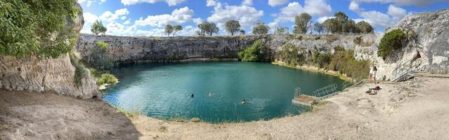
[[[384,34],[384,37],[381,38],[377,55],[385,59],[391,55],[394,50],[402,48],[406,38],[407,36],[402,29],[393,29],[392,31],[387,32]]]

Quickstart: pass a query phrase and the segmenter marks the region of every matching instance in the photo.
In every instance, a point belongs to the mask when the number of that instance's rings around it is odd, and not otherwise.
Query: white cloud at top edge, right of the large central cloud
[[[326,16],[331,14],[331,10],[331,6],[324,0],[305,0],[304,7],[298,2],[292,2],[274,15],[274,22],[294,22],[295,17],[301,15],[301,13],[309,13],[312,16]]]

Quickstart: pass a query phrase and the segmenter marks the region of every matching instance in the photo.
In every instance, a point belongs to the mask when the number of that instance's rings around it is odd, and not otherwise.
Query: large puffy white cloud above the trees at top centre
[[[227,6],[222,8],[222,4],[217,1],[208,0],[208,6],[215,6],[214,11],[208,22],[215,22],[217,26],[223,29],[225,22],[229,20],[238,20],[241,27],[252,27],[256,23],[260,22],[260,18],[263,16],[263,10],[257,10],[251,6]]]

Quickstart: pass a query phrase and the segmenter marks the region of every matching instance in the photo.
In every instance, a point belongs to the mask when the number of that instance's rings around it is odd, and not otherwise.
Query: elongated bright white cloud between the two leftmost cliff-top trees
[[[192,21],[194,10],[189,7],[177,8],[173,10],[172,14],[163,15],[148,15],[145,19],[140,18],[135,21],[138,26],[164,27],[169,24],[182,24],[184,22]]]

